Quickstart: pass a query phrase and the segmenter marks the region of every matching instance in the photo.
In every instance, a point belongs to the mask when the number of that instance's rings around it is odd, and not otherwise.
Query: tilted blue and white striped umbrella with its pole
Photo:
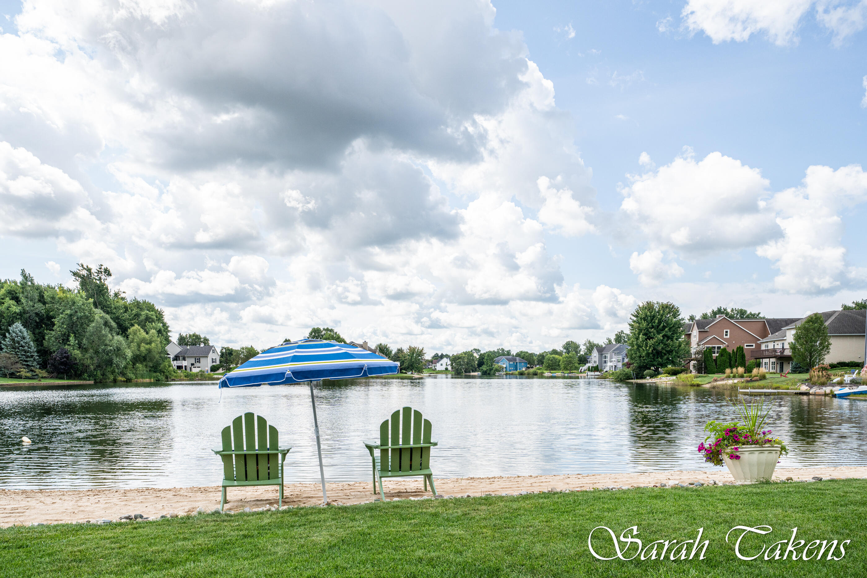
[[[245,361],[219,380],[218,387],[277,386],[284,383],[310,385],[313,404],[313,431],[316,433],[316,451],[319,453],[319,476],[323,484],[323,503],[328,503],[325,491],[323,449],[319,442],[319,422],[316,419],[316,399],[313,382],[321,380],[347,380],[397,373],[399,364],[367,349],[320,339],[288,341],[271,347],[251,360]]]

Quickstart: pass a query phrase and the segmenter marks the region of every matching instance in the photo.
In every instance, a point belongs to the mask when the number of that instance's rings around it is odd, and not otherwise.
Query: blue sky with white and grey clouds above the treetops
[[[0,0],[0,276],[541,350],[867,293],[867,0]]]

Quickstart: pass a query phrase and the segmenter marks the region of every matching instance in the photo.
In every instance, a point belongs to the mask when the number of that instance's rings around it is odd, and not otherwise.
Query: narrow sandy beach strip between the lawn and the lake
[[[778,468],[774,478],[808,480],[819,477],[867,477],[867,466]],[[498,476],[453,477],[436,479],[437,491],[445,496],[484,496],[485,494],[517,494],[520,491],[591,490],[610,486],[653,486],[684,484],[700,481],[711,484],[732,483],[727,470],[715,471],[652,471],[619,474],[569,474],[562,476]],[[389,480],[385,484],[386,499],[431,496],[421,488],[421,480],[407,478]],[[352,504],[372,502],[368,482],[334,482],[327,484],[329,502]],[[322,503],[318,484],[285,484],[284,505],[310,506]],[[277,487],[230,488],[226,510],[262,508],[277,505]],[[0,526],[31,523],[75,523],[141,514],[149,518],[176,514],[190,515],[199,508],[219,507],[218,486],[191,488],[128,488],[97,490],[0,490]]]

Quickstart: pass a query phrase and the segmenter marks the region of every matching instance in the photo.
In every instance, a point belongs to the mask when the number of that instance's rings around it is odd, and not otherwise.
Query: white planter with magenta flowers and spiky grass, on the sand
[[[725,464],[736,482],[769,482],[779,457],[789,450],[782,440],[771,437],[771,430],[762,429],[771,411],[764,411],[764,399],[748,405],[741,399],[738,410],[742,423],[707,422],[705,431],[710,435],[699,445],[699,453],[706,462]]]

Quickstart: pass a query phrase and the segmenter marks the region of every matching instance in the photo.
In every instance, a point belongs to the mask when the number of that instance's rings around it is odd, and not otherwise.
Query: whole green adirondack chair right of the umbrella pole
[[[370,451],[370,461],[374,468],[374,493],[378,482],[383,502],[383,477],[422,476],[425,491],[427,482],[430,482],[431,491],[436,496],[430,459],[431,448],[437,443],[431,441],[431,422],[422,419],[420,411],[404,407],[392,413],[391,425],[388,425],[388,419],[380,425],[379,443],[364,442],[364,445]]]

